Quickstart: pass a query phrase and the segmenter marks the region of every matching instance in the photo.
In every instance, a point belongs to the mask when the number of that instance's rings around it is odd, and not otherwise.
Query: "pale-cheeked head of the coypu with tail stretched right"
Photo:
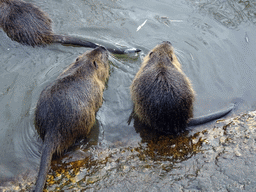
[[[161,59],[161,61],[159,61],[159,59]],[[144,58],[142,66],[146,65],[147,63],[169,63],[177,70],[181,71],[181,65],[176,55],[174,54],[173,46],[169,41],[164,41],[161,44],[157,45],[154,49],[152,49],[149,54]]]

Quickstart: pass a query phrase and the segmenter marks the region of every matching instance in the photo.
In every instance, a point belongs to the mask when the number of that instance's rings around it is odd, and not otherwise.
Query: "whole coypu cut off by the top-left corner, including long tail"
[[[8,37],[23,45],[40,46],[51,43],[96,48],[99,45],[71,37],[56,35],[51,19],[37,6],[22,0],[0,0],[0,27]],[[112,49],[115,54],[140,52],[139,49]]]

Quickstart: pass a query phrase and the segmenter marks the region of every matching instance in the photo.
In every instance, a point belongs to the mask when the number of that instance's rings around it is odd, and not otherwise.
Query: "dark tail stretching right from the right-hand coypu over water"
[[[200,125],[204,123],[208,123],[210,121],[213,121],[215,119],[219,119],[225,115],[227,115],[230,111],[234,109],[235,105],[231,104],[227,109],[223,109],[221,111],[217,111],[215,113],[211,113],[205,116],[197,117],[197,118],[192,118],[188,122],[188,127],[189,126],[195,126],[195,125]]]

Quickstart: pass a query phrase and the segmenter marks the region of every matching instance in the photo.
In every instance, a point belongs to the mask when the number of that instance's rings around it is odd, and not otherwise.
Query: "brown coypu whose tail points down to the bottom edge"
[[[108,76],[108,52],[98,47],[79,56],[41,92],[34,119],[43,140],[35,191],[44,188],[52,155],[60,155],[90,132]]]

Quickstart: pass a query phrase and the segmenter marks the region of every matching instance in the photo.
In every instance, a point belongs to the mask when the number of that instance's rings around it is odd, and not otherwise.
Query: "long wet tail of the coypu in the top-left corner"
[[[100,47],[100,45],[97,45],[90,41],[86,41],[85,39],[72,37],[68,35],[53,35],[53,43],[61,43],[63,45],[75,45],[75,46],[90,47],[90,48]],[[140,49],[136,49],[136,48],[122,50],[122,49],[113,49],[113,48],[106,47],[106,49],[113,54],[138,53],[141,51]]]

